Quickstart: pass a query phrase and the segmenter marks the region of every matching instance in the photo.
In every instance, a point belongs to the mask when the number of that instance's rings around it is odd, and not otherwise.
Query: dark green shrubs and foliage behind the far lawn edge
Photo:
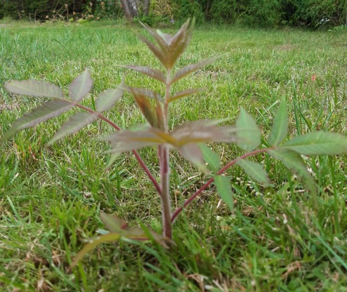
[[[127,3],[129,0],[122,0]],[[139,11],[143,8],[137,2]],[[124,5],[123,5],[124,6]],[[0,0],[0,18],[90,19],[123,17],[120,0]],[[142,8],[141,8],[142,7]],[[281,24],[310,27],[347,24],[346,0],[153,0],[149,14],[140,19],[149,25],[174,20],[180,24],[188,17],[197,23],[242,24],[274,27]],[[136,17],[138,17],[136,15]]]

